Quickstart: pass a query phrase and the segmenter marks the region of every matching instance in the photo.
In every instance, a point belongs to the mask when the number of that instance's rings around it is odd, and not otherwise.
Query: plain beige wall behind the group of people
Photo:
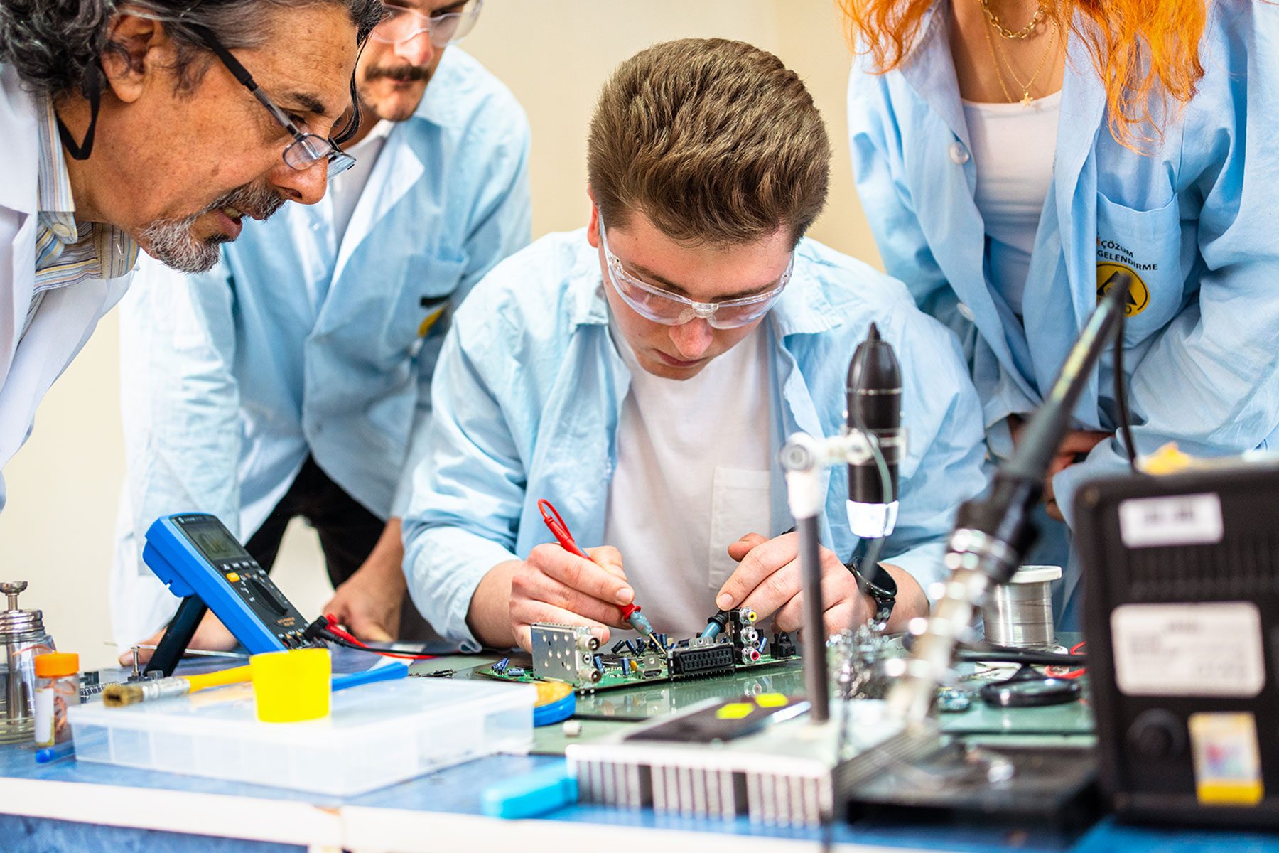
[[[853,188],[845,141],[849,56],[830,0],[489,0],[464,47],[512,88],[532,125],[533,234],[586,223],[586,127],[622,60],[686,36],[741,38],[808,84],[834,148],[830,202],[811,234],[879,263]],[[82,668],[111,665],[107,575],[124,450],[119,330],[111,315],[46,396],[27,445],[5,468],[0,579],[31,583],[59,647]],[[306,614],[330,595],[315,535],[295,522],[275,568]]]

